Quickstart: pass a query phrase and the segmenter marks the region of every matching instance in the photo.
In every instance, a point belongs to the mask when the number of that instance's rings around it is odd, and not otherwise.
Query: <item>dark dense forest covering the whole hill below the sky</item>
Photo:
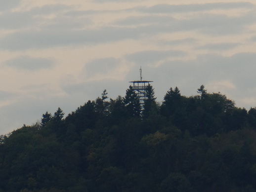
[[[256,108],[201,85],[107,91],[0,136],[0,192],[256,192]]]

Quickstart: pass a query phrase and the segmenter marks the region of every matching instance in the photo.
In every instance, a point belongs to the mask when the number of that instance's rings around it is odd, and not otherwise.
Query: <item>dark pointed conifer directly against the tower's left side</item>
[[[124,98],[125,106],[128,112],[128,115],[130,116],[139,116],[140,115],[140,103],[139,103],[139,97],[135,93],[132,86],[129,86],[129,88],[126,90],[126,96]]]

